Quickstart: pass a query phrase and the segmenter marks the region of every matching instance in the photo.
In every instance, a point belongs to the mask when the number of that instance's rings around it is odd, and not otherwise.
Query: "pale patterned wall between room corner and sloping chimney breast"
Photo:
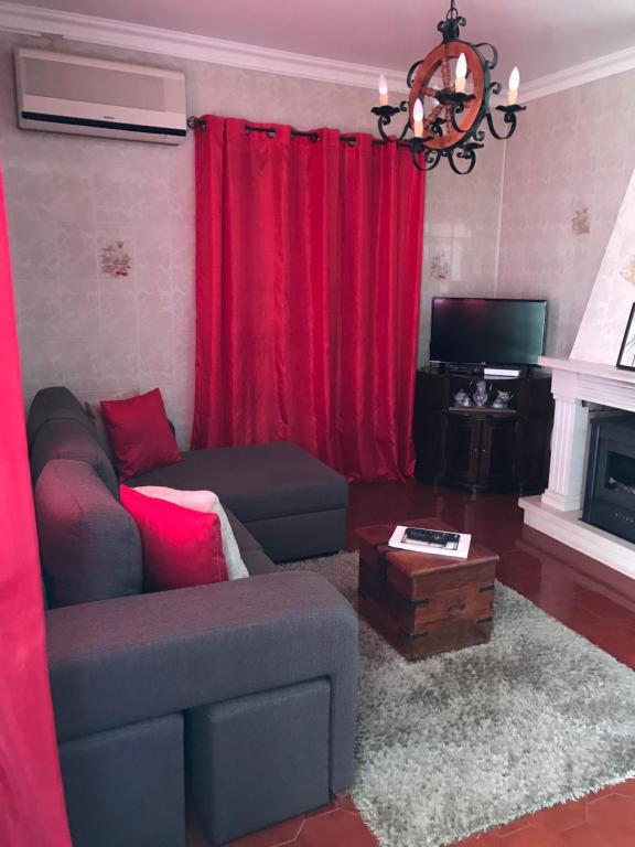
[[[568,356],[635,165],[635,71],[528,104],[507,142],[497,292],[549,300]]]

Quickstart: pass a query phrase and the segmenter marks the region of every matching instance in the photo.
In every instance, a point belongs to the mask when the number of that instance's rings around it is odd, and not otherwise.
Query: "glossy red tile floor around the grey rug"
[[[472,497],[417,482],[351,486],[348,546],[369,524],[437,516],[501,556],[498,579],[635,668],[635,580],[523,525],[512,495]],[[195,823],[191,847],[207,847]],[[232,847],[377,847],[348,797]],[[634,847],[635,780],[515,821],[461,847]]]

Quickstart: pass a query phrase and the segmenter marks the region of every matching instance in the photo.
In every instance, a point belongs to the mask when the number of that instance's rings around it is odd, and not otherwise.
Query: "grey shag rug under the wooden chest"
[[[287,566],[354,604],[357,554]],[[359,632],[353,798],[383,847],[439,847],[635,776],[635,673],[496,585],[488,644],[409,663]]]

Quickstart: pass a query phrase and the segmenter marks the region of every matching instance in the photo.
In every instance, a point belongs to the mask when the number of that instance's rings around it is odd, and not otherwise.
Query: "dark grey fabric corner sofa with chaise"
[[[342,478],[270,444],[185,453],[129,481],[216,491],[250,573],[149,594],[136,525],[79,401],[39,393],[28,433],[75,847],[182,847],[186,789],[214,844],[346,790],[356,615],[325,579],[270,558],[343,546]]]

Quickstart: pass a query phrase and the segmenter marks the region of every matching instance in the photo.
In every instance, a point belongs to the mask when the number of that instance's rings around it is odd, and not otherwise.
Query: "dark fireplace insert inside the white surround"
[[[635,415],[593,422],[582,519],[635,542]]]

